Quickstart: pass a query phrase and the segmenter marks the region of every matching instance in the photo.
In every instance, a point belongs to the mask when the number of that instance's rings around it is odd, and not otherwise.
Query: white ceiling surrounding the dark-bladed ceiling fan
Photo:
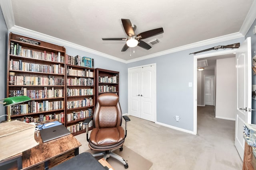
[[[255,19],[251,16],[255,12],[250,10],[255,4],[254,0],[0,1],[10,31],[55,42],[65,40],[62,44],[73,43],[79,49],[121,61],[242,37]],[[160,43],[149,50],[135,47],[133,53],[133,48],[121,52],[125,41],[103,41],[126,37],[121,18],[137,26],[136,34],[163,27],[163,34],[144,39],[148,42],[158,38]]]

